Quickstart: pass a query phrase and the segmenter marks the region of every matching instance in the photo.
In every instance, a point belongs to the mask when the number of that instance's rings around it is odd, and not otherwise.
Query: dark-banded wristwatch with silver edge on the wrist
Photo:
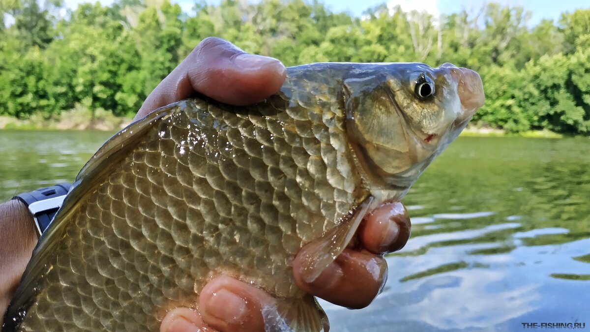
[[[53,221],[57,210],[60,209],[65,196],[70,191],[70,186],[69,183],[60,183],[22,193],[12,197],[12,199],[19,200],[27,206],[35,221],[37,235],[41,236]]]

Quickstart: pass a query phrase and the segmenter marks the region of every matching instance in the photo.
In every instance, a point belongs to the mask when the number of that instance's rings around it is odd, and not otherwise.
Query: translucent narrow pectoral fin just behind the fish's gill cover
[[[297,259],[301,260],[300,271],[305,271],[301,274],[305,282],[313,282],[344,251],[368,212],[373,199],[373,196],[366,197],[358,206],[350,210],[340,224],[301,248]]]

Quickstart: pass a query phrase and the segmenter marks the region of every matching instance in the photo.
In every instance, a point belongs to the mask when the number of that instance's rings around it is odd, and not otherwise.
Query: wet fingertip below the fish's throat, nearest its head
[[[358,235],[365,249],[383,254],[404,248],[411,229],[412,224],[404,204],[392,202],[383,204],[365,217]]]

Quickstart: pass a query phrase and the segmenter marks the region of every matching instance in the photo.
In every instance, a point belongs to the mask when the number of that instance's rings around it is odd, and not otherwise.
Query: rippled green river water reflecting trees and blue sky
[[[0,131],[0,199],[71,181],[105,132]],[[333,331],[590,330],[589,139],[459,138],[404,203],[412,237],[368,308]]]

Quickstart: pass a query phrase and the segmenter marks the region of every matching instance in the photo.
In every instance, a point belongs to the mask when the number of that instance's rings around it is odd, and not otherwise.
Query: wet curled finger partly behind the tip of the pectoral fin
[[[293,276],[301,289],[333,304],[348,308],[364,308],[379,294],[387,276],[382,256],[366,250],[345,249],[314,281],[304,281],[304,246],[293,260]]]

